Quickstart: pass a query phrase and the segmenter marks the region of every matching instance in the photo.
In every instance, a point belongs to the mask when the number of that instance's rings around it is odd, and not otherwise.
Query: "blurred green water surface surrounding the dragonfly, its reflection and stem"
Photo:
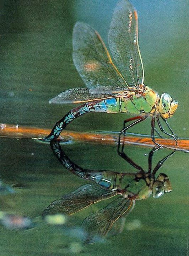
[[[117,1],[4,1],[1,8],[0,123],[52,128],[75,105],[49,105],[61,91],[84,87],[72,62],[72,28],[76,21],[90,24],[107,42],[107,27]],[[155,3],[154,3],[155,2]],[[145,68],[145,84],[167,92],[179,102],[169,124],[179,137],[189,137],[188,119],[188,3],[133,0],[139,14],[139,43]],[[95,122],[94,122],[95,118]],[[84,115],[67,129],[118,131],[125,114]],[[150,134],[150,119],[132,129]],[[189,161],[176,152],[161,171],[172,183],[172,192],[159,199],[137,201],[126,218],[124,230],[103,244],[83,246],[79,236],[63,227],[44,224],[43,210],[55,199],[87,183],[69,174],[55,159],[48,144],[29,139],[1,138],[2,180],[17,184],[17,193],[0,197],[0,211],[27,216],[35,227],[9,230],[0,226],[0,256],[25,255],[188,255]],[[116,146],[84,143],[64,145],[69,158],[83,168],[133,171],[117,155]],[[127,147],[126,152],[147,169],[149,149]],[[154,165],[169,151],[157,152]],[[108,201],[72,217],[75,225]],[[140,226],[128,230],[128,223]]]

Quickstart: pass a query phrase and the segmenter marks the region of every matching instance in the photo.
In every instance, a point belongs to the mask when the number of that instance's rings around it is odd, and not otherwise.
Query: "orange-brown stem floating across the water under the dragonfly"
[[[25,127],[25,126],[15,126],[12,124],[0,124],[0,136],[1,137],[12,137],[12,138],[36,138],[42,139],[50,133],[48,129],[40,129],[35,127]],[[79,132],[69,132],[63,131],[60,136],[60,140],[75,140],[82,142],[98,143],[98,144],[108,144],[115,145],[118,143],[118,134],[103,134],[103,133],[79,133]],[[147,147],[154,147],[151,138],[149,137],[134,137],[125,136],[121,139],[121,142],[130,145],[140,145]],[[174,149],[175,141],[173,139],[160,139],[157,138],[156,141],[159,144],[167,148]],[[179,139],[177,150],[187,151],[189,150],[189,140]]]

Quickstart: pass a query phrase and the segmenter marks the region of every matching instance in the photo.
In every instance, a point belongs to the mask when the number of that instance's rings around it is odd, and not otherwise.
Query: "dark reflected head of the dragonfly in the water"
[[[159,174],[152,186],[152,193],[154,198],[161,197],[164,193],[171,192],[171,182],[166,174]]]

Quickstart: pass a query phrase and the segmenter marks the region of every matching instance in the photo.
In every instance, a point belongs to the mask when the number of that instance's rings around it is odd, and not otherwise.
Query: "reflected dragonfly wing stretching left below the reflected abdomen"
[[[96,184],[87,184],[79,187],[63,198],[55,200],[48,206],[43,215],[47,214],[73,214],[90,206],[92,203],[107,199],[118,194],[117,191],[106,190]]]

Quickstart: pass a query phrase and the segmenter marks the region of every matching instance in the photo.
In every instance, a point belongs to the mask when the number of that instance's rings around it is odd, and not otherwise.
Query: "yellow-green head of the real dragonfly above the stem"
[[[163,118],[172,117],[178,107],[178,102],[173,101],[172,97],[165,92],[160,96],[158,109]]]

